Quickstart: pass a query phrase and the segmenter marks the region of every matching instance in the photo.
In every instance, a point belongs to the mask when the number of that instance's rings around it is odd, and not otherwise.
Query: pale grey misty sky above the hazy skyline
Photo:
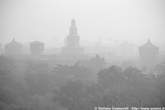
[[[151,38],[165,46],[164,7],[164,0],[0,0],[0,42],[15,37],[59,47],[75,18],[82,45]]]

